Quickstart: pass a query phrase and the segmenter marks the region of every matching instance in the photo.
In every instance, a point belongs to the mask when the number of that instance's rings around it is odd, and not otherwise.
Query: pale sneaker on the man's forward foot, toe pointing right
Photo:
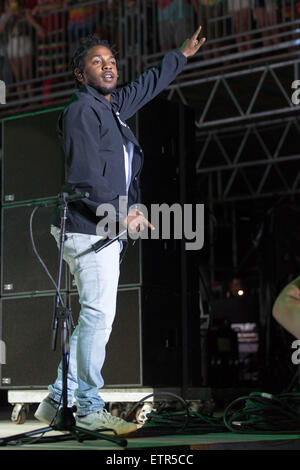
[[[91,413],[86,416],[76,418],[76,426],[81,428],[90,429],[92,431],[99,431],[101,429],[112,430],[115,434],[128,434],[137,430],[137,425],[134,423],[128,423],[122,418],[112,416],[105,409]]]

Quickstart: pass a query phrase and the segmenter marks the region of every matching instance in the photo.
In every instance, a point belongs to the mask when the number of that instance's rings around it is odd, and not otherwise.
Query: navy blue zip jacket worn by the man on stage
[[[89,197],[69,204],[68,232],[95,235],[100,220],[96,210],[102,203],[112,204],[117,219],[120,217],[119,197],[126,196],[123,137],[134,144],[128,207],[138,201],[143,152],[125,121],[164,90],[183,70],[186,61],[180,50],[168,52],[158,66],[112,92],[110,102],[88,85],[74,93],[58,121],[66,158],[66,183],[62,191],[88,192]],[[57,209],[51,222],[60,225]]]

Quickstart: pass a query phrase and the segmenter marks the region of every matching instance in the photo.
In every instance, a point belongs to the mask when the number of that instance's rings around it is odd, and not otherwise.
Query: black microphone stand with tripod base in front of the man
[[[77,439],[77,441],[82,442],[85,439],[104,439],[110,442],[113,442],[121,447],[127,446],[127,441],[124,438],[117,436],[109,436],[107,434],[100,433],[98,431],[91,431],[79,426],[76,426],[76,421],[73,415],[74,408],[68,407],[68,398],[67,398],[67,375],[68,375],[68,362],[69,362],[69,352],[70,352],[70,318],[72,315],[71,309],[67,308],[63,302],[60,288],[61,288],[61,277],[62,277],[62,265],[63,265],[63,250],[65,243],[65,227],[68,211],[68,201],[73,202],[74,200],[80,200],[87,197],[84,195],[75,195],[69,196],[67,193],[61,193],[58,196],[58,207],[60,211],[60,246],[59,246],[59,267],[58,267],[58,280],[57,280],[57,291],[55,298],[55,311],[54,318],[52,322],[52,336],[51,336],[51,348],[55,350],[56,348],[56,338],[57,338],[57,329],[58,324],[60,323],[61,329],[61,361],[62,361],[62,407],[58,410],[56,419],[53,419],[53,423],[50,426],[36,429],[34,431],[28,431],[22,434],[15,434],[13,436],[8,436],[0,438],[0,446],[5,446],[9,442],[17,444],[19,440],[22,440],[22,443],[26,443],[26,438],[36,436],[38,434],[45,434],[47,432],[58,430],[62,432],[68,431],[69,434],[57,435],[53,438],[48,438],[49,440],[68,440],[70,437]],[[48,206],[48,203],[40,204],[41,206]],[[121,236],[121,234],[120,234]],[[118,236],[116,237],[118,238]],[[114,241],[114,240],[113,240]],[[112,243],[111,240],[107,244]],[[107,244],[99,247],[99,250],[107,246]],[[104,430],[104,428],[103,428]],[[25,439],[25,441],[24,441]],[[30,444],[35,444],[40,442],[42,439],[47,439],[41,437],[35,441],[30,441]]]

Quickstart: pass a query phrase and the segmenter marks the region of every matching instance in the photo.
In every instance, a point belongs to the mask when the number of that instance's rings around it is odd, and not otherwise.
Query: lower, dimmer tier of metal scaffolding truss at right
[[[211,129],[199,138],[196,171],[209,200],[300,192],[298,117]]]

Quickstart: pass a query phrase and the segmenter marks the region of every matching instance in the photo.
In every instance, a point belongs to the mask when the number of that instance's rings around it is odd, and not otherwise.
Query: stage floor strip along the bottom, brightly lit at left
[[[27,420],[24,424],[14,424],[8,419],[0,420],[0,439],[41,429],[45,426],[35,419]],[[126,436],[127,447],[132,455],[138,451],[148,451],[154,459],[158,454],[188,453],[198,450],[300,450],[300,435],[244,435],[233,433],[211,433],[199,435],[143,435]],[[154,433],[153,433],[154,434]],[[45,436],[62,436],[58,431],[47,432]],[[36,439],[38,436],[32,437]],[[124,448],[106,440],[86,440],[78,442],[75,439],[58,442],[38,442],[35,444],[16,444],[0,447],[1,450],[103,450],[119,451]],[[109,455],[109,453],[107,454]],[[112,462],[111,462],[112,463]],[[159,463],[152,462],[152,463]],[[163,463],[163,462],[161,462]]]

